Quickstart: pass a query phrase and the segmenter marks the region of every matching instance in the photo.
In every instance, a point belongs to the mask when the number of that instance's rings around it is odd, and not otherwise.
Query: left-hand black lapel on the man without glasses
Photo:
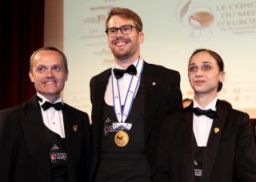
[[[22,126],[28,152],[34,167],[42,181],[50,181],[49,144],[47,142],[46,128],[42,121],[42,113],[36,97],[29,102]]]

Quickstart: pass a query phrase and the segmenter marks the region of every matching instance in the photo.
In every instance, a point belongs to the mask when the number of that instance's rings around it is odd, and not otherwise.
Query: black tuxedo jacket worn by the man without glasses
[[[64,105],[70,182],[88,181],[90,131],[86,113]],[[37,98],[0,112],[0,181],[50,182],[50,146]],[[76,131],[75,131],[76,130]]]

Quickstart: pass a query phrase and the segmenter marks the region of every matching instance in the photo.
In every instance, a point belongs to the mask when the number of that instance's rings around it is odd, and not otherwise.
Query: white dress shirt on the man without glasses
[[[48,101],[46,97],[42,96],[42,94],[37,93],[37,95],[38,97],[42,98],[42,102],[38,101],[40,106],[43,105],[45,101]],[[54,103],[57,103],[60,101],[62,102],[62,98],[58,98],[58,100],[55,101]],[[65,138],[62,110],[58,111],[53,107],[51,107],[44,111],[41,107],[41,112],[42,112],[42,121],[46,125],[46,127],[51,131],[53,131],[54,133],[58,133],[60,137]]]

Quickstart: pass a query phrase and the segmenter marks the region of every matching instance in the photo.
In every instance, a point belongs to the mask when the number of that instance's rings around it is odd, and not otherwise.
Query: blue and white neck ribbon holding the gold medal
[[[112,73],[111,73],[112,93],[113,93],[114,113],[118,118],[118,123],[113,123],[112,126],[113,126],[113,129],[115,130],[123,128],[129,131],[131,129],[132,124],[125,123],[125,121],[130,114],[130,109],[133,105],[134,96],[138,90],[138,85],[142,75],[143,60],[141,60],[140,57],[138,58],[138,62],[136,65],[137,74],[131,77],[130,79],[130,84],[126,92],[126,99],[125,99],[123,109],[121,104],[121,96],[120,96],[120,90],[118,85],[118,79],[114,77],[113,69],[114,69],[114,66],[112,68]]]

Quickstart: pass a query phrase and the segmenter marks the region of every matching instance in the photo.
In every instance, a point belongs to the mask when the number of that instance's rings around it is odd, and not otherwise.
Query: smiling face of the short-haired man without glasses
[[[63,57],[57,51],[41,50],[34,56],[30,80],[36,91],[49,101],[54,102],[60,97],[67,77]]]

